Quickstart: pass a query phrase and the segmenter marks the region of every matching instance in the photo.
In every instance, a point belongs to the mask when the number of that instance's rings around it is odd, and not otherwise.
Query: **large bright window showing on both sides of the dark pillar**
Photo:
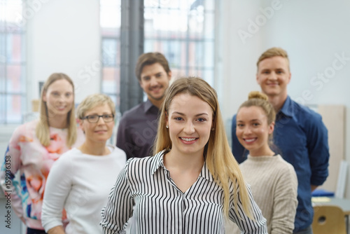
[[[113,98],[117,112],[120,12],[121,0],[100,0],[101,92]],[[200,76],[214,85],[214,16],[214,0],[144,0],[144,52],[163,53],[174,77]]]

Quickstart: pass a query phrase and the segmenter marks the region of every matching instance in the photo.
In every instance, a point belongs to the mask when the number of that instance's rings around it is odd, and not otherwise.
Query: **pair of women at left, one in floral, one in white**
[[[8,144],[1,186],[27,234],[102,232],[101,209],[126,163],[123,150],[106,145],[116,109],[101,94],[74,106],[71,78],[52,74],[38,120],[20,125]]]

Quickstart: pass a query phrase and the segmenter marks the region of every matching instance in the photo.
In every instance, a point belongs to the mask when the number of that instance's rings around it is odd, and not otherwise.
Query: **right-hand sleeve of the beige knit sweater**
[[[292,165],[281,171],[274,191],[271,234],[293,233],[297,212],[297,175]]]

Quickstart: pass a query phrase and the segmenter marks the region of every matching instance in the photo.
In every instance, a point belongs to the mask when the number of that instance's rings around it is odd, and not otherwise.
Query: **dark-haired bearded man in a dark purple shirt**
[[[158,111],[172,78],[168,61],[161,53],[140,55],[135,73],[148,99],[126,111],[120,120],[117,146],[125,151],[127,159],[151,156],[157,135]]]

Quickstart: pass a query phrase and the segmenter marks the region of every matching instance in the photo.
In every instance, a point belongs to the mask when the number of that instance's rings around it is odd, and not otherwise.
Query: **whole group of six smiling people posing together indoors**
[[[262,92],[232,119],[231,147],[216,90],[196,77],[170,84],[161,53],[137,61],[148,99],[123,114],[116,146],[111,99],[90,95],[75,110],[73,82],[52,74],[39,119],[13,132],[0,173],[27,233],[312,233],[327,130],[287,95],[285,50],[257,66]]]

